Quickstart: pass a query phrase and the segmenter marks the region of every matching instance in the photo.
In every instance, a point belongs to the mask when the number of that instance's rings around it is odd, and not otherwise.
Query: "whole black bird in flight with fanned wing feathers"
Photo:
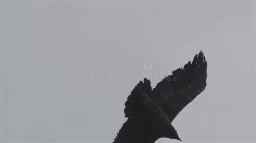
[[[207,61],[202,51],[183,68],[172,71],[152,89],[147,78],[134,87],[125,102],[127,120],[113,143],[153,143],[159,138],[180,140],[172,121],[206,88]]]

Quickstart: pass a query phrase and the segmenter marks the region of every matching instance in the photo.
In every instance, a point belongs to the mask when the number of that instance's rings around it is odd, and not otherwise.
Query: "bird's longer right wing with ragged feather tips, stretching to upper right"
[[[170,121],[206,87],[207,62],[202,51],[184,68],[165,77],[152,91],[152,99]]]

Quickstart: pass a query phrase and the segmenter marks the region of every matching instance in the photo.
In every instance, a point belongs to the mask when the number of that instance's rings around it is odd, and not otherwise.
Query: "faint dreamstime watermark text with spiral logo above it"
[[[145,77],[150,80],[162,80],[166,77],[166,80],[176,81],[176,78],[168,77],[170,72],[153,71],[151,63],[145,63],[143,70],[136,71],[94,71],[90,68],[86,68],[79,75],[82,81],[132,81],[134,79],[143,80]]]

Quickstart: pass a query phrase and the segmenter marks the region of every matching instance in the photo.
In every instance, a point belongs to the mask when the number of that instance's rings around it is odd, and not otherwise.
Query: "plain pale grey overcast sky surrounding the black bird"
[[[104,75],[168,73],[203,50],[207,88],[173,126],[183,141],[254,142],[254,8],[231,1],[2,1],[1,141],[111,142],[140,78]],[[93,72],[102,74],[83,74]],[[152,78],[152,86],[159,81]]]

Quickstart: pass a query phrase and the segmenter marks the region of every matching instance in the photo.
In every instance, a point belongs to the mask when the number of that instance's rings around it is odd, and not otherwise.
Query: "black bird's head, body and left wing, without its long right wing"
[[[153,143],[161,137],[179,139],[177,131],[161,108],[152,100],[150,81],[144,78],[125,102],[127,121],[117,133],[117,142]]]

